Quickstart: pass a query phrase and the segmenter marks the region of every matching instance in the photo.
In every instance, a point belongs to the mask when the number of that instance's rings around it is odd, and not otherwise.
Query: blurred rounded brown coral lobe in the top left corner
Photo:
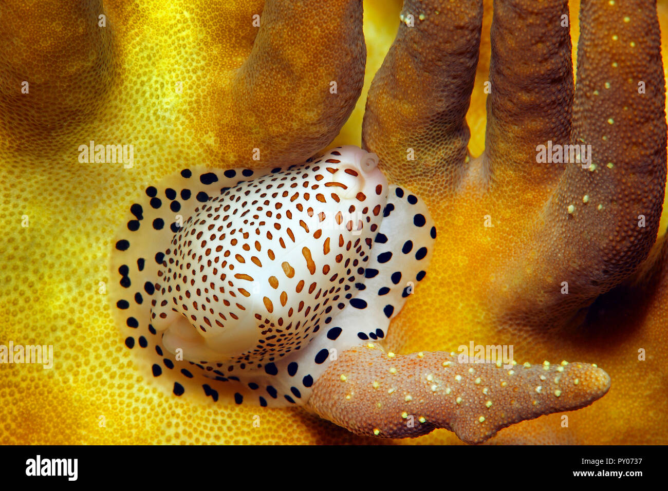
[[[103,106],[112,69],[102,1],[0,3],[0,126],[15,135],[10,148],[57,146]]]

